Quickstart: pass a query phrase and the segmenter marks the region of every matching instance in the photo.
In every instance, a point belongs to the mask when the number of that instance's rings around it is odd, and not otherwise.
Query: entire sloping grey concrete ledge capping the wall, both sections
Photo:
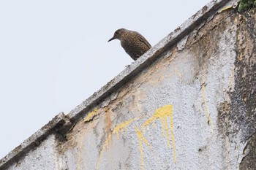
[[[141,56],[137,61],[124,69],[123,72],[118,74],[113,80],[108,82],[107,85],[103,86],[100,90],[86,99],[86,101],[83,101],[83,103],[78,105],[78,107],[72,109],[67,117],[70,117],[70,121],[72,123],[76,123],[81,117],[84,116],[86,112],[89,112],[97,104],[104,101],[105,98],[110,96],[112,93],[115,93],[118,88],[129,82],[129,80],[135,77],[139,72],[154,63],[154,61],[156,61],[160,55],[166,53],[168,48],[176,45],[176,43],[187,36],[190,31],[193,31],[197,26],[200,26],[202,23],[206,22],[211,15],[217,13],[219,9],[227,4],[228,1],[229,0],[211,1],[206,4],[203,9],[200,9],[200,11],[198,11],[195,15],[176,28],[175,31],[168,34],[146,54]],[[4,168],[7,164],[17,161],[20,156],[26,155],[26,152],[29,152],[29,150],[31,150],[33,147],[36,147],[37,143],[39,143],[39,141],[42,139],[45,139],[45,136],[52,133],[54,128],[60,127],[61,124],[64,124],[61,122],[67,121],[65,120],[67,118],[64,119],[64,117],[65,116],[63,113],[56,115],[56,117],[54,117],[53,120],[51,120],[47,125],[39,129],[39,131],[34,133],[31,137],[29,137],[29,139],[26,139],[26,141],[16,147],[15,150],[12,150],[12,152],[2,158],[0,161],[0,169]]]

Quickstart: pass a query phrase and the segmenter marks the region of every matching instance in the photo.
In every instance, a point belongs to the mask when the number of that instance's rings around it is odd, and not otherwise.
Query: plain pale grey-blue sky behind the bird
[[[118,28],[154,46],[208,1],[0,1],[0,159],[132,63]]]

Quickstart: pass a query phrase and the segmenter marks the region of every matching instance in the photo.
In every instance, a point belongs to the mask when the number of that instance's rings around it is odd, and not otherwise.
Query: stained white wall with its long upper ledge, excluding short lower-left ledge
[[[226,2],[208,4],[70,112],[70,122],[2,165],[256,169],[256,15]]]

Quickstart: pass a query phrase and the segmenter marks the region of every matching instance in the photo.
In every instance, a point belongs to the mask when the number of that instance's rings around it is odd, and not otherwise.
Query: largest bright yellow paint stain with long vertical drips
[[[169,135],[169,129],[167,125],[167,117],[170,117],[170,135]],[[173,145],[173,158],[174,163],[176,163],[176,145],[175,145],[175,139],[174,139],[174,132],[173,132],[173,106],[172,105],[166,105],[164,107],[161,107],[156,110],[155,114],[148,118],[145,123],[143,123],[142,127],[146,127],[147,125],[153,123],[154,120],[159,120],[162,123],[162,136],[166,137],[168,147],[170,148],[170,136],[172,139],[172,145]]]

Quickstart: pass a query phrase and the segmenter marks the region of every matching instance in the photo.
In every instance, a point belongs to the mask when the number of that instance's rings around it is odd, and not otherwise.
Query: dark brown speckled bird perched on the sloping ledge
[[[146,53],[151,45],[140,33],[136,31],[130,31],[125,28],[116,30],[114,36],[108,40],[119,39],[121,47],[124,48],[125,52],[133,59],[137,60],[141,55]]]

